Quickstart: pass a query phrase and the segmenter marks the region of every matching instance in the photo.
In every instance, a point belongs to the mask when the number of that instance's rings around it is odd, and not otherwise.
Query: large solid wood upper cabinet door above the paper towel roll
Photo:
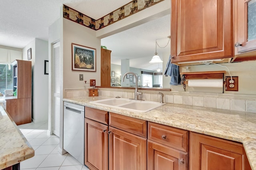
[[[172,63],[233,55],[232,0],[172,0]]]

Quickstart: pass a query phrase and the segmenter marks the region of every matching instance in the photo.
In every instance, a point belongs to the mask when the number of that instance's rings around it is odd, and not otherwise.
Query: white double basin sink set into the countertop
[[[150,110],[153,110],[165,104],[153,101],[132,100],[128,98],[109,98],[91,101],[91,103],[100,104],[102,106],[112,106],[114,108],[137,112],[149,112]]]

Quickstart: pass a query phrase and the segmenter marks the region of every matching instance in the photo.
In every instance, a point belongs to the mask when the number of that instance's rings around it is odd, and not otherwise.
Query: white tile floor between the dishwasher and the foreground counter
[[[22,124],[18,128],[35,150],[34,157],[20,162],[20,169],[89,170],[70,154],[58,152],[60,140],[58,136],[47,135],[48,122]]]

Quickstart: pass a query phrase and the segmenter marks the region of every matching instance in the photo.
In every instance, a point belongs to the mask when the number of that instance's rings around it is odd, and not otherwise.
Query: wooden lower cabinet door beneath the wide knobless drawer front
[[[146,138],[109,127],[109,170],[146,170]]]

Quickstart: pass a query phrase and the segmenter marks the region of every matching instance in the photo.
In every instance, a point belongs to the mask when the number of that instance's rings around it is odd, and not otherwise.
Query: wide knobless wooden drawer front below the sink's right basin
[[[136,134],[146,138],[147,136],[147,121],[137,118],[131,118],[115,113],[109,113],[109,126]]]

